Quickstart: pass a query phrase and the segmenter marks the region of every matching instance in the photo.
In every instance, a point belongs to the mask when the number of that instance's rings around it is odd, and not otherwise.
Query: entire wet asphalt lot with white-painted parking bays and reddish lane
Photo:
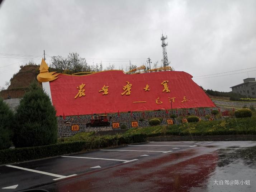
[[[0,166],[0,191],[31,188],[255,192],[256,141],[150,142]]]

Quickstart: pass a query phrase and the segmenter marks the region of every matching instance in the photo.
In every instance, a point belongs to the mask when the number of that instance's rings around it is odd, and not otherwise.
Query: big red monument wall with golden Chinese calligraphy
[[[50,82],[57,116],[172,108],[215,107],[182,71],[125,74],[120,70],[84,76],[58,75]]]

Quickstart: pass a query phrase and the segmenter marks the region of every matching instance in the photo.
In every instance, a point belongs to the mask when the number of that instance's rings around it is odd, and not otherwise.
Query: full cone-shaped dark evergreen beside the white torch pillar
[[[16,147],[57,142],[57,117],[48,95],[37,82],[30,85],[15,114],[13,143]]]

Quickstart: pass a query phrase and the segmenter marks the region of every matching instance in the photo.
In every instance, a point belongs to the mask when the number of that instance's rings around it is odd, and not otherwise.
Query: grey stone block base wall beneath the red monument
[[[183,117],[187,114],[194,114],[201,119],[204,119],[205,115],[211,114],[211,111],[216,108],[208,108],[208,109],[179,109],[176,111],[173,110],[173,114]],[[167,119],[170,119],[170,115],[172,114],[171,110],[168,110],[168,114],[166,111],[159,110],[159,111],[145,111],[144,113],[142,111],[139,112],[122,112],[118,116],[117,113],[115,114],[107,114],[108,119],[110,119],[110,126],[108,127],[90,127],[87,128],[86,124],[90,122],[92,115],[80,115],[78,116],[66,116],[65,120],[63,120],[63,117],[58,117],[58,137],[70,137],[72,135],[75,135],[79,132],[90,132],[90,131],[110,131],[110,130],[119,130],[119,129],[113,129],[112,123],[118,122],[120,127],[122,125],[125,125],[126,128],[132,128],[132,121],[138,121],[138,127],[147,127],[149,126],[148,120],[156,117],[159,119],[162,119],[161,125],[167,125]],[[96,115],[93,115],[94,118]],[[67,123],[66,123],[67,122]],[[180,121],[175,119],[175,124],[179,124]],[[71,127],[72,125],[79,125],[79,131],[72,131]]]

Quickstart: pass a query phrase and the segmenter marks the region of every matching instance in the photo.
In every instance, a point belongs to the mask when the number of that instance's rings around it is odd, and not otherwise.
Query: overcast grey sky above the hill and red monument
[[[47,63],[49,56],[77,52],[89,64],[117,69],[129,59],[137,66],[148,57],[161,64],[163,31],[176,71],[190,73],[205,89],[231,91],[256,77],[255,15],[255,0],[5,0],[0,86],[31,58],[39,64],[43,50]],[[222,74],[203,76],[215,73]],[[233,73],[239,74],[228,75]]]

